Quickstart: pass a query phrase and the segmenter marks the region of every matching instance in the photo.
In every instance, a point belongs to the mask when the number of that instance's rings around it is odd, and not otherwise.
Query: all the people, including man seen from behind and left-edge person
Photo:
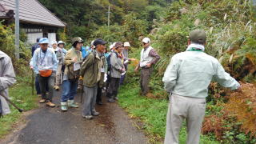
[[[106,52],[107,42],[96,39],[88,50],[82,52],[82,38],[73,38],[72,48],[64,49],[64,42],[53,42],[49,48],[49,40],[41,38],[34,50],[31,68],[37,74],[40,93],[46,106],[54,107],[52,96],[57,86],[62,83],[61,109],[78,107],[74,103],[74,95],[78,87],[82,88],[84,104],[82,116],[91,119],[99,113],[95,103],[101,104],[104,82],[107,83],[106,96],[108,102],[118,100],[118,87],[124,81],[128,63],[129,42],[115,42]],[[206,54],[206,32],[193,30],[190,32],[188,47],[185,52],[175,54],[167,67],[162,81],[166,91],[170,92],[170,105],[166,118],[165,144],[178,144],[178,135],[182,122],[186,119],[188,144],[198,144],[202,121],[206,110],[208,86],[212,79],[231,90],[241,90],[240,84],[227,74],[218,60]],[[56,46],[57,45],[57,46]],[[185,45],[185,44],[184,44]],[[135,71],[141,68],[142,94],[149,93],[150,74],[159,60],[159,55],[150,46],[150,38],[143,38],[141,59]],[[65,52],[66,51],[66,52]],[[61,78],[62,70],[64,73]],[[60,80],[62,79],[62,80]],[[62,81],[62,82],[61,82]],[[0,51],[0,95],[7,95],[8,86],[15,82],[15,74],[10,58]],[[49,94],[46,94],[48,91]],[[0,104],[4,114],[10,113],[6,101],[0,96]]]

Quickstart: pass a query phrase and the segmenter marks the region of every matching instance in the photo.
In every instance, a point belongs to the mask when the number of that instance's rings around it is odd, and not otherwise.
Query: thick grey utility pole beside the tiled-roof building
[[[19,59],[19,0],[15,0],[15,57]]]

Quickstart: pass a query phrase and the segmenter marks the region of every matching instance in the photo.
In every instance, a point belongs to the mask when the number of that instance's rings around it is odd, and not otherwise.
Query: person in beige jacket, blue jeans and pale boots
[[[80,51],[82,38],[73,38],[72,43],[72,48],[66,52],[66,57],[64,58],[66,68],[62,84],[62,111],[66,111],[68,107],[78,108],[78,105],[74,103],[74,95],[77,94],[78,78],[82,64],[82,52]]]

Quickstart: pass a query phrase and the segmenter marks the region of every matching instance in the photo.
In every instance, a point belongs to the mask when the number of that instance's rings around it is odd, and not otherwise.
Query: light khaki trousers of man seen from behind
[[[166,120],[165,144],[178,144],[182,122],[186,119],[187,144],[198,144],[205,116],[206,98],[190,98],[172,94]]]

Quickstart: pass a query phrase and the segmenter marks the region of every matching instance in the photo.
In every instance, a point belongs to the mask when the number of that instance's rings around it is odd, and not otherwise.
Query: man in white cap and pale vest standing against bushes
[[[149,93],[149,83],[150,83],[150,75],[153,71],[153,66],[158,60],[160,56],[158,53],[150,46],[150,38],[142,39],[143,49],[141,51],[141,59],[138,66],[135,68],[135,71],[138,71],[139,67],[141,70],[141,90],[142,95],[146,95]]]

